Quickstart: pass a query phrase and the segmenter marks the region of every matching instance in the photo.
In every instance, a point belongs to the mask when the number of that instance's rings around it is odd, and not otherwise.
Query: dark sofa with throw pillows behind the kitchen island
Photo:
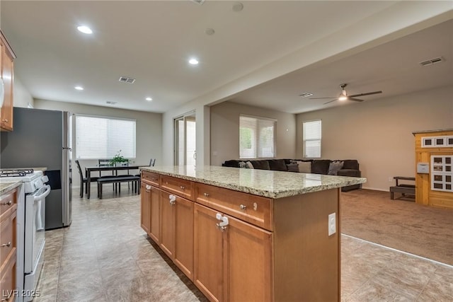
[[[229,160],[222,163],[224,167],[250,168],[260,170],[277,170],[297,173],[314,173],[323,175],[339,175],[360,178],[362,173],[355,159],[260,159],[254,161]],[[361,185],[348,185],[341,191],[360,189]]]

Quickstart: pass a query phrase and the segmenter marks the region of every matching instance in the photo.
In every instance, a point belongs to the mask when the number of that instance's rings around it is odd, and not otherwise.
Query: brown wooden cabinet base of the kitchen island
[[[272,199],[160,175],[155,190],[159,246],[210,301],[340,301],[339,188]]]

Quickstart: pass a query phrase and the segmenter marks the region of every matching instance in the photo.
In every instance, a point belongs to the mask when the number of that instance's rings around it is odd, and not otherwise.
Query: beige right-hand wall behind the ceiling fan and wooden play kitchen
[[[322,158],[355,158],[364,188],[389,190],[394,176],[415,177],[412,132],[453,129],[453,87],[352,103],[297,115],[297,157],[302,123],[322,120]]]

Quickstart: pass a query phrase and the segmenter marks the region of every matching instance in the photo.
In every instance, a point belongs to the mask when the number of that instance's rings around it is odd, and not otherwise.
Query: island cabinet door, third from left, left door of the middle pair
[[[174,196],[174,195],[172,195]],[[174,206],[176,204],[171,202],[170,194],[161,191],[161,241],[159,245],[161,249],[171,258],[174,259],[175,251],[175,214]]]

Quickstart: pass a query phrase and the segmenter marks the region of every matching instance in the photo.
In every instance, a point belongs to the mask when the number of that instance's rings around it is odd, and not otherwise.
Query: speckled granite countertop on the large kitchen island
[[[191,165],[161,165],[140,167],[140,169],[270,198],[288,197],[367,182],[366,178],[229,168],[216,165],[196,168]]]

